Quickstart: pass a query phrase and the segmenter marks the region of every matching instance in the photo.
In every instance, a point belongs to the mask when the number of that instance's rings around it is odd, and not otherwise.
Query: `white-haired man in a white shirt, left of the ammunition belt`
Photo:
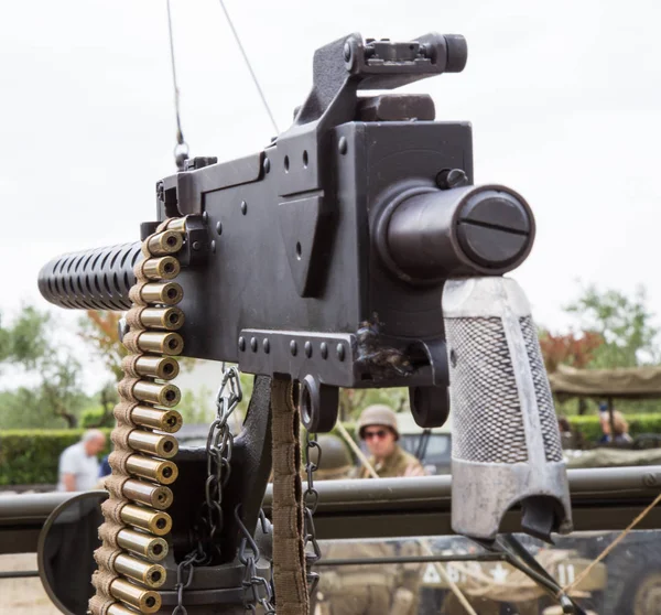
[[[58,492],[87,492],[97,486],[99,461],[97,455],[106,446],[102,431],[90,429],[80,442],[72,444],[59,455]]]

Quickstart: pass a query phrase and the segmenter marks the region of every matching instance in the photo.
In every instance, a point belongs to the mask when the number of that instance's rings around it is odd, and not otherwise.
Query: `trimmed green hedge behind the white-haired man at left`
[[[101,430],[108,444],[100,456],[110,452],[110,430]],[[7,430],[0,431],[0,485],[40,485],[57,483],[59,455],[80,440],[85,430]]]

